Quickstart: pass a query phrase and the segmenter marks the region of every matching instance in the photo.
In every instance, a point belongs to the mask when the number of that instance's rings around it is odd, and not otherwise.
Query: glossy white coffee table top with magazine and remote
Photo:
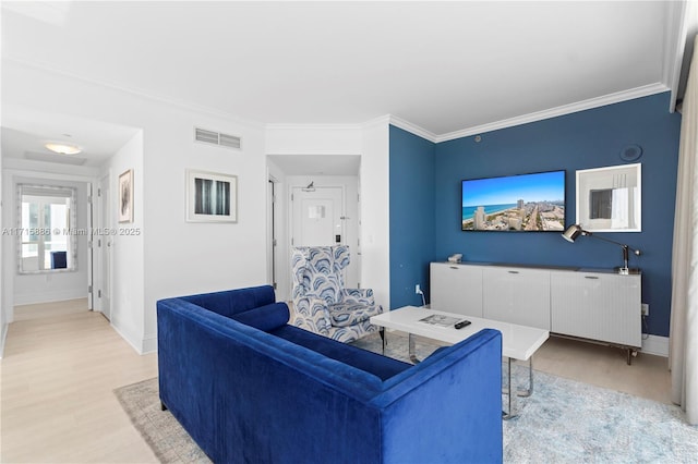
[[[432,315],[453,317],[459,321],[468,319],[471,323],[462,329],[456,329],[453,325],[441,327],[420,321],[420,319]],[[502,332],[502,355],[519,361],[527,361],[531,357],[550,335],[547,330],[535,327],[518,326],[416,306],[405,306],[373,316],[371,323],[454,344],[482,329],[496,329]]]

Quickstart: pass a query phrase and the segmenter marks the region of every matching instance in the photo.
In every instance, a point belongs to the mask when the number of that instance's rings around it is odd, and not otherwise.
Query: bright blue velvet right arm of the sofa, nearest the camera
[[[448,346],[384,387],[372,403],[390,425],[383,428],[386,464],[503,461],[498,331],[484,329]]]

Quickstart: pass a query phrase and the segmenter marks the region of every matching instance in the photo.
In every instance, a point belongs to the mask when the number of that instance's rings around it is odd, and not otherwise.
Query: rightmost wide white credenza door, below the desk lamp
[[[552,332],[642,345],[641,276],[551,273]]]

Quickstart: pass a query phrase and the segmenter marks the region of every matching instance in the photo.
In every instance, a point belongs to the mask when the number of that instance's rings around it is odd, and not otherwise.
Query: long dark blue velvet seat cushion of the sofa
[[[381,378],[381,380],[389,379],[412,367],[411,364],[351,346],[293,326],[282,326],[272,330],[269,333],[323,354],[332,359],[353,366],[357,369],[373,374]]]

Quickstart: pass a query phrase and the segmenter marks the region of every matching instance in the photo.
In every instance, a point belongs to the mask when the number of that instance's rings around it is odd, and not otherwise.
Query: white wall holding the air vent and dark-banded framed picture
[[[131,265],[143,264],[143,291],[131,288],[132,279],[124,281],[123,273],[115,276],[112,289],[133,303],[124,304],[119,317],[133,330],[122,334],[139,352],[156,347],[157,300],[266,283],[262,127],[16,62],[3,63],[2,72],[3,103],[58,113],[68,109],[75,117],[143,130],[142,167],[134,168],[135,223],[142,224],[143,244],[127,246],[121,240],[113,257],[130,272],[137,272]],[[194,126],[239,135],[243,148],[194,143]],[[188,168],[238,175],[238,223],[184,221]],[[112,172],[121,173],[116,167]]]

